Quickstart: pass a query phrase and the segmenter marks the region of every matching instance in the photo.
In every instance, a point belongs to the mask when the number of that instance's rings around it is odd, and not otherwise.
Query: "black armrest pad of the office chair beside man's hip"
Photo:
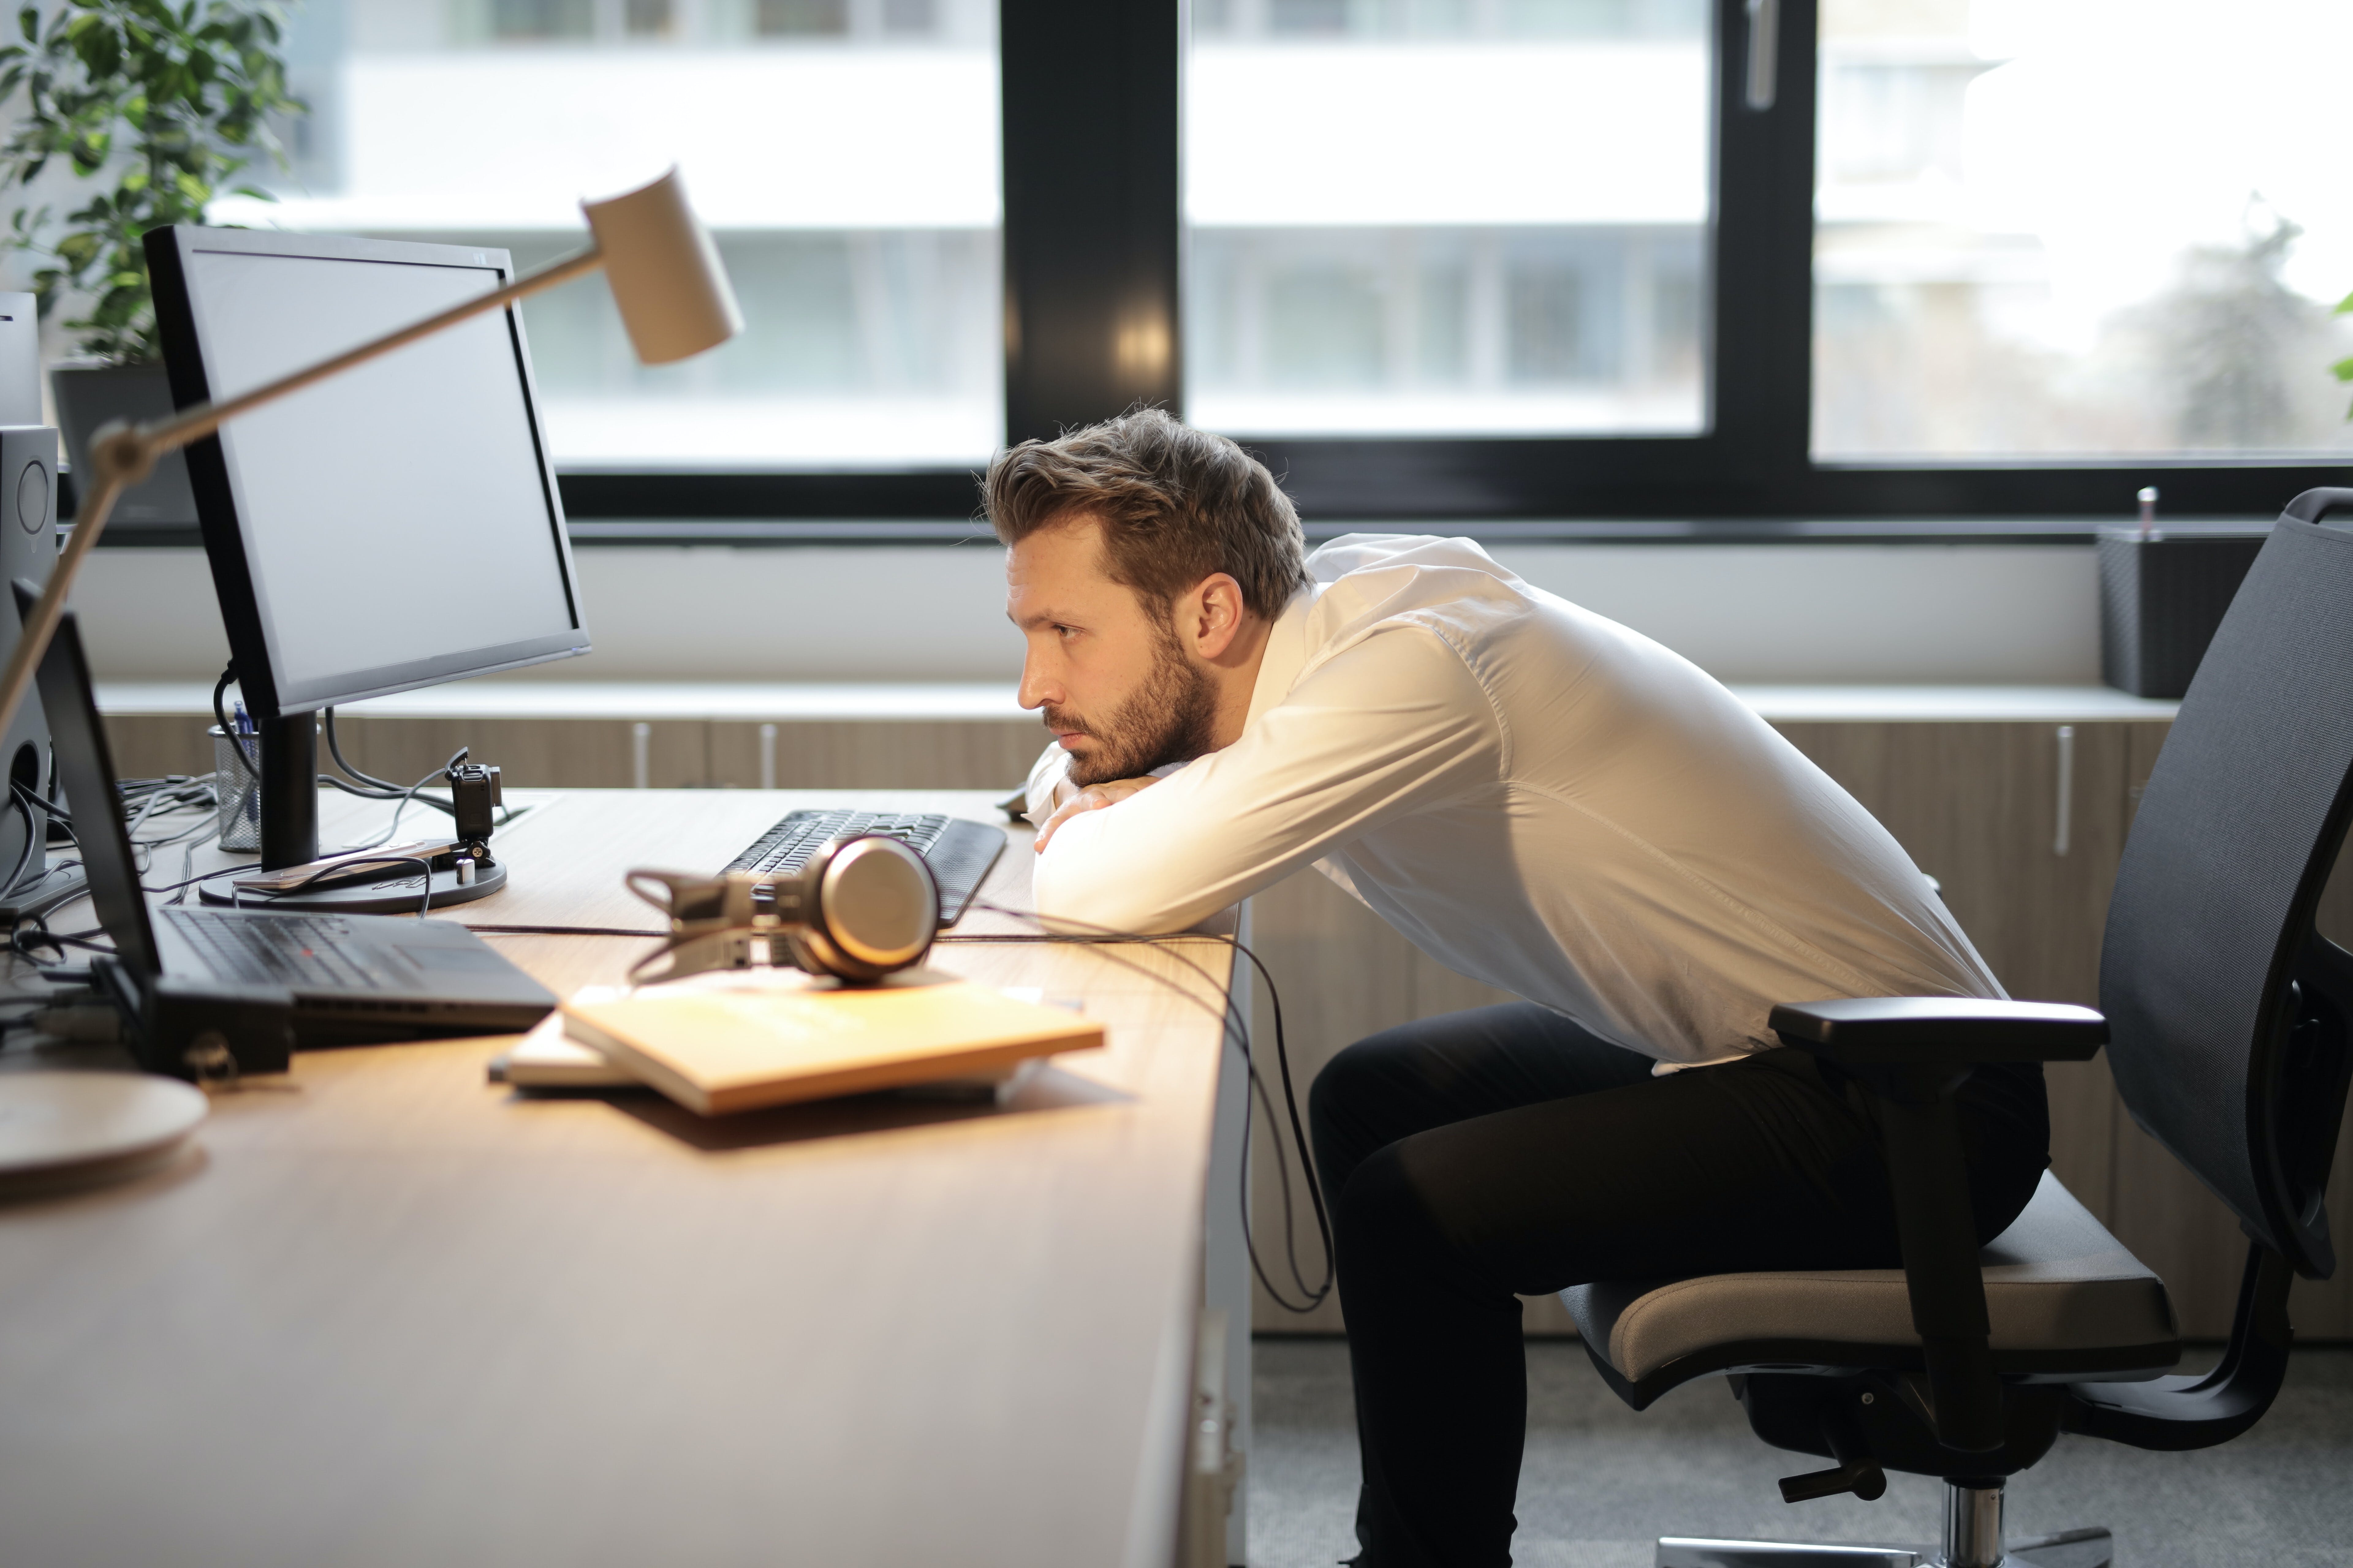
[[[1784,1001],[1767,1025],[1781,1044],[1845,1067],[2085,1063],[2108,1044],[2108,1020],[2087,1006],[1984,997]]]

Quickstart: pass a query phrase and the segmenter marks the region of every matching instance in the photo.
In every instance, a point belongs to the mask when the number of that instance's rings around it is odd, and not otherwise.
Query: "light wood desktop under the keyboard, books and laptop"
[[[447,917],[645,926],[624,867],[814,799],[560,795]],[[558,992],[645,950],[487,940]],[[941,945],[1111,1025],[1002,1110],[522,1098],[492,1041],[219,1093],[176,1168],[0,1206],[0,1563],[1167,1561],[1228,959]]]

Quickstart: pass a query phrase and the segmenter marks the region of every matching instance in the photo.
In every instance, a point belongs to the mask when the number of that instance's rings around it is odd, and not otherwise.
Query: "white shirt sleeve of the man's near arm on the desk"
[[[1504,766],[1485,689],[1435,632],[1344,649],[1221,752],[1038,856],[1038,914],[1087,931],[1184,931],[1332,846],[1480,785]]]

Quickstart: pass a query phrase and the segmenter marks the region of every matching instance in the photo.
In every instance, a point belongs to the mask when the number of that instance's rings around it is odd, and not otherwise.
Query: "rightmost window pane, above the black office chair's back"
[[[2353,444],[2344,0],[1824,0],[1814,454]]]

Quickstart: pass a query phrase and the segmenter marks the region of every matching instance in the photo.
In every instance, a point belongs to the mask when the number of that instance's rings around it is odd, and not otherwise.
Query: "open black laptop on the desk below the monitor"
[[[26,588],[16,592],[21,604]],[[181,907],[151,917],[71,611],[40,661],[40,701],[89,903],[115,943],[92,978],[122,1009],[148,1072],[282,1072],[292,1046],[511,1034],[555,1009],[546,987],[454,922]]]

